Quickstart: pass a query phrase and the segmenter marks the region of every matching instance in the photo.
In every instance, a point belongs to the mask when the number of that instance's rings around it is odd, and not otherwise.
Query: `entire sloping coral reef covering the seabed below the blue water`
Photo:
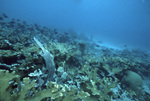
[[[0,19],[1,101],[149,101],[148,53],[102,47],[73,30],[5,19]]]

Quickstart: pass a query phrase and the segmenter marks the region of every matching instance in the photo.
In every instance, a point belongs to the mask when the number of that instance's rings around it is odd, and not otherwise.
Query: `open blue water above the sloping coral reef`
[[[0,0],[0,13],[150,51],[150,0]]]

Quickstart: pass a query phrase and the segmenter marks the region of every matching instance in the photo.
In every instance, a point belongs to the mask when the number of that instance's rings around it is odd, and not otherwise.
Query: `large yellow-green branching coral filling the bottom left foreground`
[[[19,79],[15,72],[0,70],[0,101],[46,101],[46,99],[74,101],[90,96],[87,92],[55,82],[48,82],[46,89],[36,89],[36,81],[31,82],[29,78],[23,79],[24,86],[22,86]],[[17,87],[14,89],[16,83]]]

